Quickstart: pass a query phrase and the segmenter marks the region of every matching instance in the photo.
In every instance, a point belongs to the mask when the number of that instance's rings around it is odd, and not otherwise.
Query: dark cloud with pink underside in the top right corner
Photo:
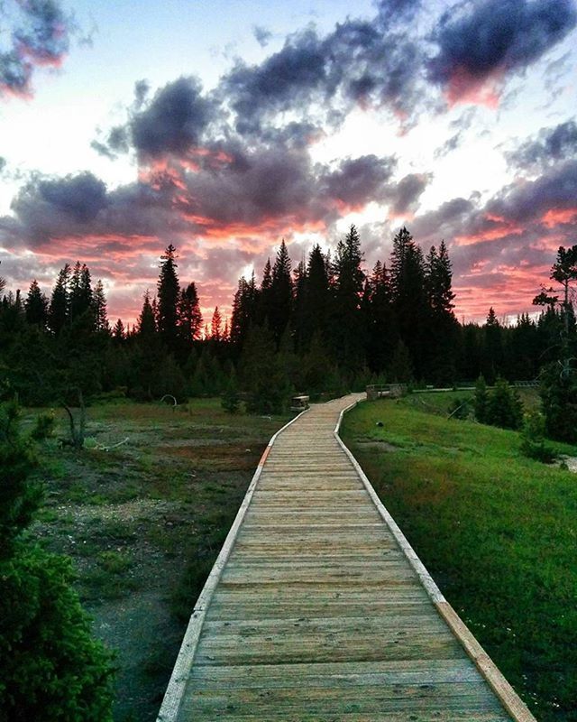
[[[526,69],[577,23],[572,0],[476,0],[447,10],[432,39],[429,77],[453,94],[496,72]]]

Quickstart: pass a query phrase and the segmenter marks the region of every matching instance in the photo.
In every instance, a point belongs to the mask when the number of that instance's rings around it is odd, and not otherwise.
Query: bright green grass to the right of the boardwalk
[[[575,722],[577,477],[523,457],[515,431],[447,420],[455,395],[363,403],[343,440],[537,719]]]

